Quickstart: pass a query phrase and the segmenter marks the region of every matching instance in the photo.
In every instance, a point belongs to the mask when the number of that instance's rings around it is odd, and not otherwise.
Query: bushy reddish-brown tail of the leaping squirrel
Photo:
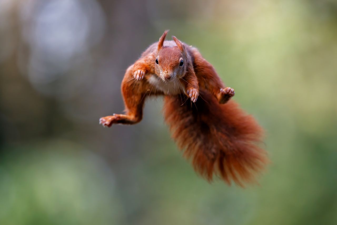
[[[263,129],[255,119],[233,100],[219,104],[207,91],[200,90],[195,104],[187,100],[182,105],[181,98],[165,97],[164,118],[195,171],[209,181],[213,175],[240,186],[254,181],[255,173],[268,162],[259,147]]]

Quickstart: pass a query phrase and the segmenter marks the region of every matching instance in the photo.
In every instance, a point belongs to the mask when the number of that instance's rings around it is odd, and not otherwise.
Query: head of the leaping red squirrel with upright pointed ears
[[[187,54],[184,44],[172,36],[176,46],[163,46],[168,30],[165,30],[158,42],[155,71],[163,81],[172,81],[184,77],[186,73]]]

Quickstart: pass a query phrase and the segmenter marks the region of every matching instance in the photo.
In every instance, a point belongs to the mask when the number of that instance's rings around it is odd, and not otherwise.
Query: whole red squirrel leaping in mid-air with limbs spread
[[[142,120],[145,98],[164,95],[164,119],[184,156],[208,181],[240,186],[254,181],[268,162],[259,147],[263,129],[238,104],[200,52],[172,36],[150,45],[125,72],[121,90],[126,114],[102,117],[104,127]]]

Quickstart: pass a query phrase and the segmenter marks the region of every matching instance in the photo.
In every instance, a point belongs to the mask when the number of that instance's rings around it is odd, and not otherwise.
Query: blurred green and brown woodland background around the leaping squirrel
[[[196,175],[160,97],[98,124],[165,29],[265,127],[259,185]],[[337,224],[336,60],[334,0],[0,0],[0,224]]]

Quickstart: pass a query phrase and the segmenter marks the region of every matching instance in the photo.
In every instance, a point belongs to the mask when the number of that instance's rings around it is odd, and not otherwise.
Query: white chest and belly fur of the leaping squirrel
[[[157,87],[157,90],[162,91],[165,95],[177,95],[179,93],[185,93],[185,87],[180,81],[172,80],[170,82],[165,82],[156,75],[150,75],[148,82],[153,85],[153,89]]]

